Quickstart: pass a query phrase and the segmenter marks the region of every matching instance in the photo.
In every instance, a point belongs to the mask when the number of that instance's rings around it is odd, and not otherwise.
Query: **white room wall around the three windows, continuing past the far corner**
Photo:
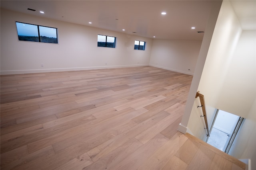
[[[15,21],[56,27],[59,43],[18,41]],[[98,34],[116,37],[116,48],[97,47]],[[146,50],[134,50],[134,40],[146,41]],[[151,65],[193,75],[201,43],[152,40],[1,9],[1,74]]]

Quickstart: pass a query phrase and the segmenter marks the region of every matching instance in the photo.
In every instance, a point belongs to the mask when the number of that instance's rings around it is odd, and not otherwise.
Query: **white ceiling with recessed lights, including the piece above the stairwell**
[[[206,27],[212,2],[211,0],[1,0],[0,6],[35,16],[142,37],[202,40],[204,33],[198,31],[204,31]],[[255,2],[255,0],[232,1],[240,23],[244,25],[243,29],[256,28]],[[36,11],[27,10],[28,8]],[[40,11],[44,11],[44,14]],[[161,12],[166,12],[166,15],[162,15]]]

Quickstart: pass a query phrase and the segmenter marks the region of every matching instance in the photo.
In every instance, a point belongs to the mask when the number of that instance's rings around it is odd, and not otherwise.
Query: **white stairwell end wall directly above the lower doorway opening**
[[[246,118],[256,96],[256,31],[243,31],[222,84],[218,109]]]

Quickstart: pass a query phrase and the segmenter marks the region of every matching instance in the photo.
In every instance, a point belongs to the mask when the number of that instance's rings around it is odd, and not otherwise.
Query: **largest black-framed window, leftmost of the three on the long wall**
[[[57,28],[16,22],[19,41],[58,43]]]

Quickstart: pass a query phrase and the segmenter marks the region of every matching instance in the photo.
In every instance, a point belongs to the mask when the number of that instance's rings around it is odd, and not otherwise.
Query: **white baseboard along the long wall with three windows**
[[[52,69],[38,69],[38,70],[8,70],[1,71],[1,75],[7,74],[27,74],[27,73],[42,73],[42,72],[60,72],[60,71],[78,71],[78,70],[95,70],[105,68],[126,68],[126,67],[140,67],[149,66],[148,64],[137,64],[137,65],[122,65],[122,66],[96,66],[96,67],[76,67],[76,68],[52,68]]]

